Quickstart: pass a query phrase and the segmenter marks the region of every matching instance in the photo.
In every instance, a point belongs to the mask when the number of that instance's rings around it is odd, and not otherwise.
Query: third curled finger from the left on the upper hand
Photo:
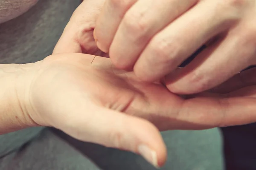
[[[222,0],[200,1],[154,36],[136,62],[135,74],[154,81],[170,73],[210,38],[233,26],[240,18],[236,9]]]

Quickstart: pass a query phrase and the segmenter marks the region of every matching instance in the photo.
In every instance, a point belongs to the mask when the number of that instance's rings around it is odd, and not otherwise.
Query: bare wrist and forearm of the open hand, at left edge
[[[23,101],[32,65],[0,64],[0,134],[35,126]]]

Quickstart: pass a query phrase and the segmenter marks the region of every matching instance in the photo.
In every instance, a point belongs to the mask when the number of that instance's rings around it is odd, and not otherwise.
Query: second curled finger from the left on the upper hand
[[[131,68],[148,41],[198,0],[138,0],[122,19],[110,46],[118,68]]]

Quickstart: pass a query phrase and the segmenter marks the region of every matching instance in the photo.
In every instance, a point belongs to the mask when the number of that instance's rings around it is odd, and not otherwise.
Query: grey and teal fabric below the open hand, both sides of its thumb
[[[162,135],[169,157],[161,170],[223,170],[221,138],[217,129],[174,130]],[[80,142],[50,129],[44,129],[34,140],[0,159],[0,170],[100,169],[157,170],[141,156]]]

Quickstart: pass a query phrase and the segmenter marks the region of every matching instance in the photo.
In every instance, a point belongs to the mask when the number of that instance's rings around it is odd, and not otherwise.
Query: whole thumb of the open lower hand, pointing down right
[[[86,114],[78,118],[76,129],[65,131],[76,139],[138,153],[155,167],[166,161],[166,147],[159,130],[144,119],[106,108],[92,111],[90,119]]]

